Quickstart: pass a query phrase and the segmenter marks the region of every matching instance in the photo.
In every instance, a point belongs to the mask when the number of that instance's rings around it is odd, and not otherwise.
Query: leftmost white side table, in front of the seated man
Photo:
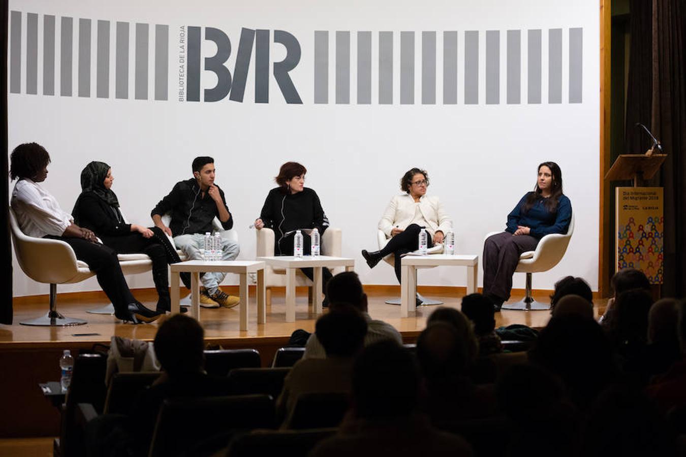
[[[248,330],[248,273],[257,273],[257,323],[266,322],[264,299],[264,262],[254,260],[187,260],[169,265],[171,271],[171,312],[180,311],[179,273],[191,273],[191,315],[200,317],[200,273],[217,271],[220,273],[237,273],[240,276],[239,295],[239,330]]]

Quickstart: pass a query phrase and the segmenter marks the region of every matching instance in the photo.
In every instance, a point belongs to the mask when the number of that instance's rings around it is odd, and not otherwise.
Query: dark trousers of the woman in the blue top
[[[533,251],[539,240],[529,235],[514,236],[502,232],[486,238],[484,243],[484,294],[490,293],[508,301],[512,291],[512,275],[517,269],[519,256]]]

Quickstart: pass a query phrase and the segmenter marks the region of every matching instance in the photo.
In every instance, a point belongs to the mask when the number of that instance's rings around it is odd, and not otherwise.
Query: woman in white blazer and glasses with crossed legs
[[[379,230],[383,230],[390,241],[381,251],[362,250],[362,257],[370,268],[374,268],[388,254],[394,254],[398,282],[401,255],[418,249],[420,230],[426,228],[429,234],[428,247],[432,247],[434,243],[442,243],[445,232],[453,227],[438,197],[426,195],[427,187],[429,175],[426,170],[413,168],[407,171],[400,180],[403,194],[390,200],[379,221]]]

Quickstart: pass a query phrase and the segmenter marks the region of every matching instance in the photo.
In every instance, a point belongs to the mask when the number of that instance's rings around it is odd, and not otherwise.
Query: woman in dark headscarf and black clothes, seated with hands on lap
[[[93,230],[102,242],[117,254],[147,254],[152,260],[152,280],[159,299],[157,311],[171,309],[167,264],[180,262],[167,236],[157,227],[126,223],[119,200],[112,191],[112,169],[104,162],[91,162],[81,172],[81,195],[72,216],[78,225]],[[187,279],[187,278],[182,278]],[[187,281],[184,281],[187,282]]]

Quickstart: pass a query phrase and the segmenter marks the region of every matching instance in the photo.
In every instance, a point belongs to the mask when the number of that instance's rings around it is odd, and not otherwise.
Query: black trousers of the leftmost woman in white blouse
[[[88,268],[95,272],[97,283],[100,284],[102,291],[115,306],[117,317],[126,315],[128,304],[138,303],[121,273],[117,252],[114,249],[82,238],[51,235],[45,238],[64,241],[74,250],[78,260],[83,260],[88,264]]]

